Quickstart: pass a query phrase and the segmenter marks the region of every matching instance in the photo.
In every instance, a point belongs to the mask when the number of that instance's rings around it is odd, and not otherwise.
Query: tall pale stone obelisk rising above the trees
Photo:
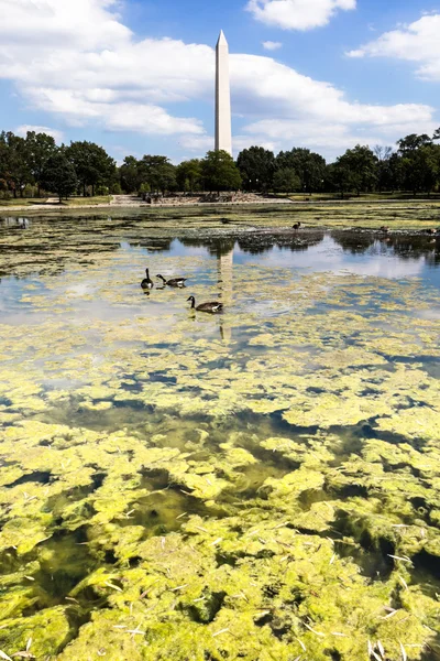
[[[216,151],[224,150],[232,155],[229,47],[223,31],[217,42],[216,59]]]

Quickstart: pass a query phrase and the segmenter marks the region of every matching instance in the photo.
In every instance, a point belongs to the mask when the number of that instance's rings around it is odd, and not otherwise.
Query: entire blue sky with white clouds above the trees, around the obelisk
[[[92,140],[118,161],[211,148],[220,29],[235,153],[307,147],[331,161],[440,126],[428,0],[0,0],[0,128]]]

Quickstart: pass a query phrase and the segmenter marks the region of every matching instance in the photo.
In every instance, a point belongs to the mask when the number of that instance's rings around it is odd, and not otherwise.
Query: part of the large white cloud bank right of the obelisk
[[[432,132],[438,123],[429,106],[350,102],[334,86],[270,57],[232,55],[231,76],[238,112],[252,99],[253,118],[244,133],[254,144],[295,144],[333,158],[358,142],[389,144],[415,130]]]

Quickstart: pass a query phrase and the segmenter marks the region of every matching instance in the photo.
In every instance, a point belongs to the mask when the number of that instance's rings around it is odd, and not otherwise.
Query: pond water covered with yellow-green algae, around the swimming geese
[[[15,225],[3,654],[439,659],[439,242]],[[146,295],[146,267],[187,288]]]

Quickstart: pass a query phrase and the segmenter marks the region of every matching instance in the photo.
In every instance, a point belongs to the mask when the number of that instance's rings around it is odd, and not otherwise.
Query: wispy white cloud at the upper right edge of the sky
[[[350,57],[395,57],[418,64],[417,74],[440,80],[440,13],[427,14],[397,30],[350,51]]]

